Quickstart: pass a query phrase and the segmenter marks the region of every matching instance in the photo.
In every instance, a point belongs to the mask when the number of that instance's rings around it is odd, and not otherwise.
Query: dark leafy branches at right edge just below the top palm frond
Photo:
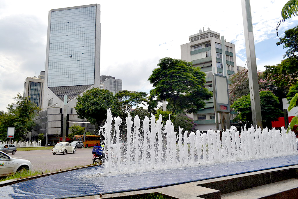
[[[298,52],[298,25],[294,28],[285,31],[285,36],[279,38],[279,42],[276,45],[283,44],[283,48],[286,48],[287,51],[283,58],[295,58],[298,61],[297,52]]]

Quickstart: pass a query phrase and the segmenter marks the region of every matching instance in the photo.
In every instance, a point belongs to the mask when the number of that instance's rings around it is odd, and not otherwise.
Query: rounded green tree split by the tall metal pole
[[[263,126],[271,128],[271,121],[277,120],[277,118],[283,114],[283,112],[278,109],[278,98],[273,95],[271,91],[260,91],[260,104]],[[238,98],[231,105],[231,108],[240,112],[237,116],[238,120],[252,123],[252,108],[249,94]]]

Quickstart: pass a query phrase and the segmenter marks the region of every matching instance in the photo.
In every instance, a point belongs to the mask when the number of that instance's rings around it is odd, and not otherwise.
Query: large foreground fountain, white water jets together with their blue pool
[[[220,137],[214,130],[175,132],[170,119],[163,125],[161,116],[144,121],[136,116],[132,121],[128,113],[122,121],[113,118],[110,109],[107,116],[100,130],[105,136],[104,165],[2,186],[0,198],[69,198],[153,189],[298,164],[295,134],[286,134],[283,127],[251,127],[241,133],[231,127]],[[127,147],[119,144],[122,122]]]

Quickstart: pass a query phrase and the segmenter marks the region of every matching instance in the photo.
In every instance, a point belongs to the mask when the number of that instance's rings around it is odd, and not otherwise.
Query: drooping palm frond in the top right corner
[[[281,16],[282,19],[280,19],[280,21],[277,23],[276,26],[276,34],[278,36],[278,28],[280,27],[280,25],[285,22],[285,20],[287,20],[288,18],[291,18],[291,16],[298,16],[298,0],[290,0],[288,1],[283,9],[281,10]]]

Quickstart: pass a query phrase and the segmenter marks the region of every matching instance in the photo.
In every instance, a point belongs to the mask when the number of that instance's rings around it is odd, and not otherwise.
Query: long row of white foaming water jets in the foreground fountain
[[[152,171],[297,154],[296,136],[294,132],[286,134],[284,127],[281,131],[244,128],[239,134],[232,126],[222,132],[221,138],[220,132],[214,130],[208,130],[207,134],[197,130],[187,136],[187,131],[182,135],[181,128],[178,133],[174,131],[170,115],[164,126],[161,115],[157,121],[153,114],[150,119],[145,117],[140,131],[139,117],[132,121],[129,113],[126,118],[127,148],[121,148],[119,126],[122,120],[119,116],[113,119],[110,109],[107,116],[101,128],[105,136],[104,173]]]

